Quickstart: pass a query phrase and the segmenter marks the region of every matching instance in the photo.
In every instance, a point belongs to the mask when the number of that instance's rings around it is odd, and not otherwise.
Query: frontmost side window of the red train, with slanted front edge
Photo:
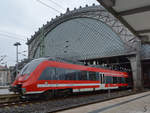
[[[40,75],[38,80],[53,80],[55,77],[55,68],[47,67]]]

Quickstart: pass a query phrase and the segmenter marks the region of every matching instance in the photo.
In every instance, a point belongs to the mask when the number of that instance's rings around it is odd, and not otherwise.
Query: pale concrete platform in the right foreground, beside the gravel
[[[150,113],[150,91],[59,113]]]

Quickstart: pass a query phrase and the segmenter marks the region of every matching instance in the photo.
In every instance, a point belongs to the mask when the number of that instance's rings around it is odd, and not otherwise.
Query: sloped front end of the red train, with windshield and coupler
[[[32,85],[34,81],[30,80],[34,75],[33,72],[37,68],[37,66],[47,60],[46,58],[39,58],[32,60],[31,62],[27,63],[17,75],[15,81],[10,86],[10,91],[14,93],[19,93],[21,95],[26,93],[26,87]]]

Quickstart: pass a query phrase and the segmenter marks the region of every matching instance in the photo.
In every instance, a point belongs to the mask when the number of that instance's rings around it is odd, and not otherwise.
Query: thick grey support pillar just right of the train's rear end
[[[133,57],[129,57],[132,68],[134,91],[143,89],[140,50],[141,50],[141,41],[137,41],[136,55]]]

